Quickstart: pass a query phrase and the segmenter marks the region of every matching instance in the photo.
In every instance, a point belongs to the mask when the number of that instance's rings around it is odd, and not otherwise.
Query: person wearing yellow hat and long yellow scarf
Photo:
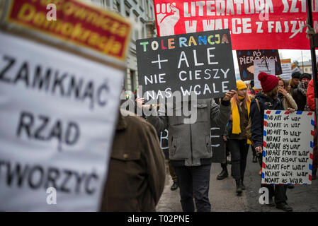
[[[231,99],[232,130],[229,129],[229,150],[231,150],[233,176],[237,183],[237,195],[245,190],[243,184],[246,168],[246,158],[249,150],[249,141],[246,138],[246,127],[249,124],[249,109],[251,99],[247,93],[247,86],[237,81],[237,94]]]

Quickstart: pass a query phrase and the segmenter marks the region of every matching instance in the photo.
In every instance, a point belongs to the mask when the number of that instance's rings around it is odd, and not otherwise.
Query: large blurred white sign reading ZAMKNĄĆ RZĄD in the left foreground
[[[0,211],[99,210],[123,71],[0,43]]]

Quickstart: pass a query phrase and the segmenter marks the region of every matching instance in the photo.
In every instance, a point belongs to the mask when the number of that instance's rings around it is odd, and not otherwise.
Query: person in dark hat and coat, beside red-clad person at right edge
[[[295,100],[298,111],[309,111],[309,107],[307,105],[307,87],[308,83],[312,79],[309,73],[302,73],[300,76],[300,83],[298,84],[297,89],[293,90],[293,99]]]

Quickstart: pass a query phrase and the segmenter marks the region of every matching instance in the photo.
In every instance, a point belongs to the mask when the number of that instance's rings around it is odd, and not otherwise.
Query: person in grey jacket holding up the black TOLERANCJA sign
[[[184,120],[191,116],[186,117],[184,114],[152,114],[147,118],[157,131],[169,131],[169,158],[178,177],[184,212],[194,211],[193,196],[198,211],[211,210],[208,197],[212,163],[210,129],[211,126],[225,127],[231,112],[229,100],[235,93],[235,90],[227,92],[220,105],[213,99],[188,102],[191,112],[196,111],[196,121],[191,124],[186,124]],[[174,104],[173,108],[174,112],[178,107]]]

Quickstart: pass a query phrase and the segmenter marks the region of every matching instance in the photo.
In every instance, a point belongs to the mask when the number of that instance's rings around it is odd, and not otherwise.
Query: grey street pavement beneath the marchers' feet
[[[261,177],[259,176],[259,162],[252,162],[251,148],[247,157],[244,185],[246,190],[242,196],[237,196],[234,178],[231,177],[231,165],[227,165],[229,177],[217,180],[217,174],[222,171],[219,163],[212,163],[210,174],[209,198],[212,212],[283,212],[276,207],[268,207],[259,204],[259,188]],[[157,205],[158,212],[181,212],[179,189],[171,191],[172,179],[166,164],[166,184]],[[318,179],[311,185],[295,185],[294,189],[288,189],[288,204],[294,212],[318,211]]]

